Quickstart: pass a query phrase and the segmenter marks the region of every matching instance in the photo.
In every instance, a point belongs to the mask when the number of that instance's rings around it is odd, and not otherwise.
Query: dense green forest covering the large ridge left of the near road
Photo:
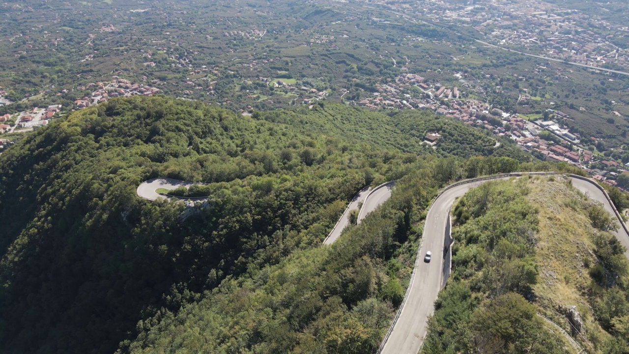
[[[0,351],[375,352],[437,191],[571,170],[530,159],[423,111],[248,117],[167,96],[75,111],[0,156]],[[182,219],[183,203],[136,195],[159,176],[205,183],[208,207]],[[391,200],[320,246],[357,191],[389,180]]]

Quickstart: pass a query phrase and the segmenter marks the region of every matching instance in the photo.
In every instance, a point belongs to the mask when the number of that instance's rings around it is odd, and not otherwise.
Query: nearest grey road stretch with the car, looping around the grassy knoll
[[[501,178],[508,179],[508,178]],[[613,209],[602,191],[587,181],[571,178],[572,185],[594,200],[603,203],[604,207],[612,215]],[[486,181],[474,181],[465,185],[455,186],[445,191],[435,200],[428,214],[424,226],[423,242],[415,262],[410,290],[406,294],[403,308],[398,321],[394,324],[391,333],[382,346],[382,354],[416,354],[421,348],[421,343],[428,329],[427,319],[434,311],[434,303],[441,288],[443,276],[443,239],[445,236],[445,224],[448,212],[457,197],[467,193],[470,188],[485,183]],[[629,236],[620,228],[616,237],[629,249]],[[424,262],[426,251],[432,251],[430,263]],[[629,257],[629,254],[628,254]]]

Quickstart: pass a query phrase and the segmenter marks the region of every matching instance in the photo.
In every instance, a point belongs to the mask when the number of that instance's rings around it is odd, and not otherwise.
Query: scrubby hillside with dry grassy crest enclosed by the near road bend
[[[486,183],[454,215],[452,277],[422,353],[626,352],[625,249],[569,180]]]

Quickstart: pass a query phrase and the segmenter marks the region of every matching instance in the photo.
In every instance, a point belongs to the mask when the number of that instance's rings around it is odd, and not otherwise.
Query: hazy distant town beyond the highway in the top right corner
[[[493,45],[526,49],[532,54],[589,66],[616,64],[629,69],[629,52],[593,30],[626,33],[629,28],[613,25],[586,11],[533,0],[496,0],[489,5],[467,6],[457,1],[425,1],[422,6],[385,0],[374,3],[426,20],[472,26]]]

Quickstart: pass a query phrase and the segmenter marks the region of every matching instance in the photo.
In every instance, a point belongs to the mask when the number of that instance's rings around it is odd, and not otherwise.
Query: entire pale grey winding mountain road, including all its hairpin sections
[[[439,290],[445,285],[442,284],[444,266],[449,268],[449,265],[443,264],[443,254],[447,250],[444,248],[444,239],[450,208],[457,198],[467,193],[471,188],[479,186],[486,181],[507,180],[509,178],[516,178],[516,176],[501,175],[494,178],[489,177],[486,180],[470,180],[455,183],[453,186],[446,188],[433,202],[426,215],[421,248],[418,250],[404,302],[389,333],[387,333],[386,338],[382,342],[379,353],[418,353],[428,329],[428,316],[435,311],[435,300],[437,300]],[[596,182],[574,177],[570,178],[573,186],[587,195],[587,197],[602,203],[605,210],[610,212],[611,215],[615,215],[613,206],[603,191],[596,185]],[[157,198],[165,198],[155,191],[157,188],[174,190],[179,186],[189,187],[194,184],[172,178],[154,178],[138,186],[137,193],[142,198],[156,200]],[[359,222],[391,197],[392,188],[394,188],[394,181],[384,183],[384,185],[378,186],[374,190],[369,190],[368,188],[361,190],[345,209],[335,227],[326,237],[324,244],[332,244],[338,239],[349,222],[349,212],[357,209],[360,202],[363,202],[363,204],[362,208],[360,208]],[[629,234],[626,233],[625,229],[619,227],[618,231],[613,233],[618,237],[621,244],[629,250]],[[423,262],[423,255],[426,251],[432,251],[433,253],[433,260],[430,263]],[[625,256],[629,258],[629,251],[625,252]]]

